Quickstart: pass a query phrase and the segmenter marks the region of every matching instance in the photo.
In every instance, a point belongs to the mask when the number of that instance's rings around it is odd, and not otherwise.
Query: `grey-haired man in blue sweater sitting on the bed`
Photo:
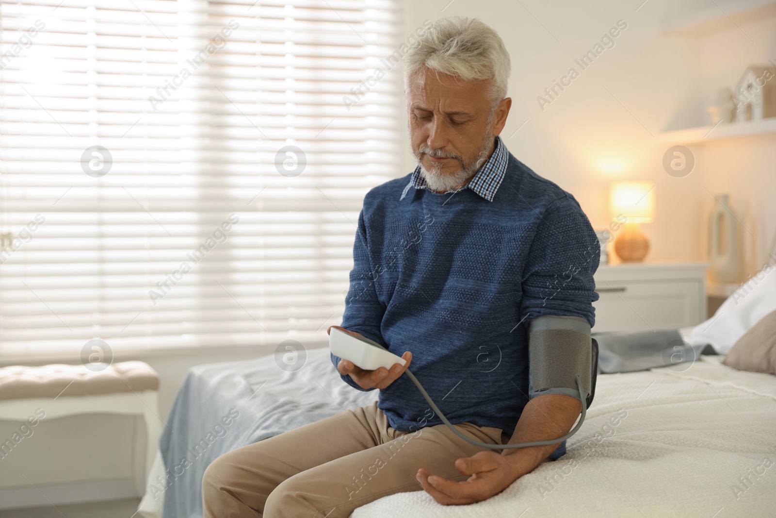
[[[598,241],[573,196],[498,136],[509,71],[501,38],[477,19],[438,20],[404,56],[418,165],[365,197],[340,329],[407,364],[367,371],[333,356],[379,401],[219,457],[203,478],[206,517],[336,518],[421,488],[467,504],[565,454],[565,441],[470,444],[402,376],[412,365],[456,428],[484,443],[554,440],[580,415],[563,373],[591,368]],[[539,371],[553,381],[537,386]]]

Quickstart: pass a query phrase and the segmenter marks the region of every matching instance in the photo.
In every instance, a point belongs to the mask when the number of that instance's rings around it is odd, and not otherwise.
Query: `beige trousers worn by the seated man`
[[[510,437],[468,422],[456,428],[483,443]],[[204,518],[346,517],[383,496],[420,491],[418,468],[466,480],[456,459],[480,450],[445,425],[399,432],[374,403],[218,457],[202,480]]]

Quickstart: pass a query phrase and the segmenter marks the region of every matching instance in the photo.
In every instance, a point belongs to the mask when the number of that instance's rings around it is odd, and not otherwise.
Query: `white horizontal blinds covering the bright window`
[[[396,8],[0,2],[0,356],[322,341],[403,174]]]

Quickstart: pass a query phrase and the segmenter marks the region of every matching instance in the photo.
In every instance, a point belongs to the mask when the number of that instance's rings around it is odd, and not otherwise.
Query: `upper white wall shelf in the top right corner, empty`
[[[739,23],[747,23],[774,15],[776,15],[776,1],[774,0],[719,2],[719,7],[712,5],[707,9],[664,23],[663,33],[704,36],[720,30],[733,29]]]

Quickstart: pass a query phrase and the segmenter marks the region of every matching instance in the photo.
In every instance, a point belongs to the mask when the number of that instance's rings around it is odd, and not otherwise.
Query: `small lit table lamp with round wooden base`
[[[643,181],[611,184],[611,214],[618,223],[625,223],[615,239],[615,253],[622,262],[643,261],[650,251],[650,242],[639,228],[651,223],[655,215],[655,183]]]

